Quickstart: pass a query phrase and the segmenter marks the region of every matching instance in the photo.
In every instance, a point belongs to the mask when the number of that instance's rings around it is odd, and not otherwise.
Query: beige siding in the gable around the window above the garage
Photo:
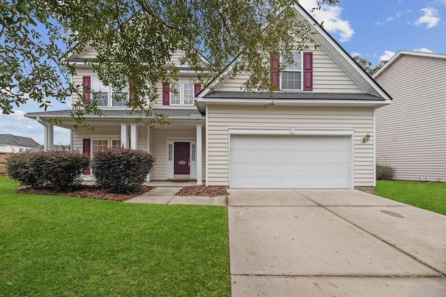
[[[314,50],[314,45],[309,45],[305,52],[313,52],[313,92],[364,93],[320,47]],[[226,79],[215,91],[243,91],[248,78],[248,73],[240,73],[233,79]]]

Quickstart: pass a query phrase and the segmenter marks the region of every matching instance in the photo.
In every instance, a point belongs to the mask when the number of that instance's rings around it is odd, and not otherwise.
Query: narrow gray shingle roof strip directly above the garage
[[[267,92],[244,92],[244,91],[213,91],[204,98],[221,99],[270,99]],[[279,100],[301,99],[301,100],[385,100],[382,97],[368,93],[314,93],[314,92],[274,92],[274,98]]]

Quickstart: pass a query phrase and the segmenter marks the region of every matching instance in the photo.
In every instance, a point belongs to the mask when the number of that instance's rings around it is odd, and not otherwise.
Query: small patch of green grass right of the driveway
[[[446,183],[377,181],[375,194],[446,215]]]

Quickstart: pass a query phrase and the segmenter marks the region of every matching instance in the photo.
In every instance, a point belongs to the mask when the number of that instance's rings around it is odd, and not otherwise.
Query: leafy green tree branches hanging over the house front
[[[116,90],[130,82],[132,112],[150,114],[155,84],[176,81],[176,51],[203,82],[243,52],[234,75],[248,71],[246,89],[272,90],[270,52],[305,49],[309,38],[309,24],[293,17],[289,0],[0,0],[0,108],[13,112],[26,96],[45,109],[52,98],[82,96],[64,59],[88,47],[98,55],[84,63],[102,82]],[[94,102],[77,109],[77,119],[99,112]]]

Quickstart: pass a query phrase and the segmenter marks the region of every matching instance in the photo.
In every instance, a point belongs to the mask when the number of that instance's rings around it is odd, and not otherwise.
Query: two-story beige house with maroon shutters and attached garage
[[[243,91],[249,74],[231,78],[232,65],[203,89],[183,65],[178,84],[159,84],[153,105],[171,124],[151,128],[135,123],[93,69],[79,65],[73,82],[102,92],[98,105],[104,116],[85,117],[94,132],[75,125],[70,110],[26,116],[44,123],[45,147],[55,125],[49,119],[58,117],[62,123],[57,125],[71,130],[73,149],[91,154],[123,144],[148,151],[156,160],[151,180],[196,179],[197,185],[206,181],[231,188],[373,187],[375,111],[389,104],[390,96],[307,11],[294,8],[296,18],[312,26],[318,47],[295,52],[295,67],[272,73],[278,86],[274,106],[264,108],[271,101],[267,93]],[[68,60],[84,61],[94,54],[87,49]],[[177,65],[181,54],[172,59]]]

